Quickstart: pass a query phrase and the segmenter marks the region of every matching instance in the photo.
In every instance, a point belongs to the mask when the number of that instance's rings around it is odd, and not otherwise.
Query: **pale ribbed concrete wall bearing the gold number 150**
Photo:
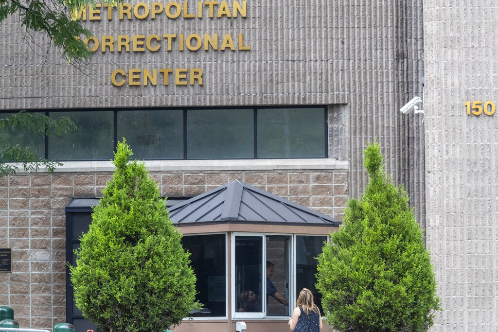
[[[498,331],[496,2],[424,0],[427,245],[444,311],[432,331]],[[491,109],[490,109],[491,110]]]

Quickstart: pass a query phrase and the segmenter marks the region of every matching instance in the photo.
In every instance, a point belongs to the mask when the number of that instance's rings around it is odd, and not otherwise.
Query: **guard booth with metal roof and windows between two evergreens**
[[[184,235],[204,305],[174,332],[235,332],[242,321],[247,331],[288,331],[304,287],[320,305],[315,257],[340,221],[238,180],[171,207],[169,217]]]

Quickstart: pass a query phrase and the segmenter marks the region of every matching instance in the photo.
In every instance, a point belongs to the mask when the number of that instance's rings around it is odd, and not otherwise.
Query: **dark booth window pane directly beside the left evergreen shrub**
[[[197,277],[196,300],[204,306],[192,316],[227,316],[225,234],[183,236],[182,245],[191,253],[190,266]]]

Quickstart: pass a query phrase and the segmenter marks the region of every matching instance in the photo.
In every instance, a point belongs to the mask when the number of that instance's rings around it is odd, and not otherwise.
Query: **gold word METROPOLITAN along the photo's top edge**
[[[101,8],[103,12],[101,12]],[[113,10],[116,9],[116,10]],[[107,19],[112,20],[115,12],[118,12],[119,19],[146,19],[150,17],[155,19],[160,15],[166,15],[168,18],[202,18],[207,15],[210,18],[232,18],[247,17],[247,2],[233,1],[230,5],[227,1],[198,1],[197,5],[190,5],[187,1],[183,1],[182,5],[179,2],[172,1],[164,5],[162,2],[152,2],[150,5],[144,2],[138,2],[135,5],[130,3],[121,3],[114,6],[108,3],[95,3],[95,7],[88,5],[81,7],[80,10],[74,10],[71,15],[76,19],[89,21],[99,21],[106,14]],[[88,13],[88,15],[87,15]]]

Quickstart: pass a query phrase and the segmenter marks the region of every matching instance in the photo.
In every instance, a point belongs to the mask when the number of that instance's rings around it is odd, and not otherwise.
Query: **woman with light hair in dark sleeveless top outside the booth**
[[[309,289],[301,290],[296,305],[289,319],[290,329],[294,332],[320,332],[323,327],[322,317]]]

